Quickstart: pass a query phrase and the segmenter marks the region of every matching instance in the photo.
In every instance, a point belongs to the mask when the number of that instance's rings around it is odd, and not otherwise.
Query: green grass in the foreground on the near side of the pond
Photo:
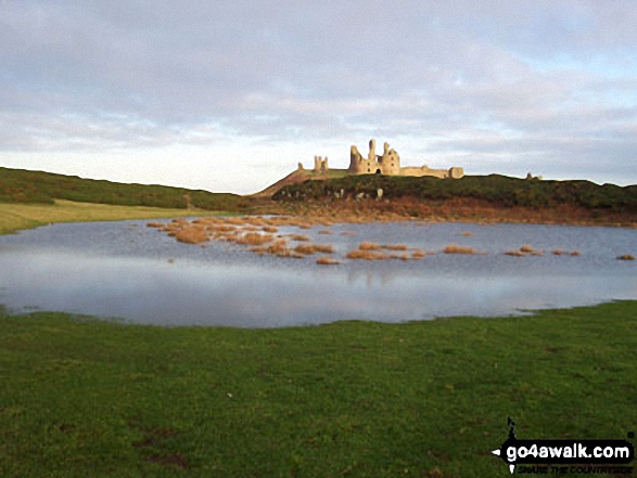
[[[505,477],[637,428],[637,302],[233,330],[0,312],[0,476]]]

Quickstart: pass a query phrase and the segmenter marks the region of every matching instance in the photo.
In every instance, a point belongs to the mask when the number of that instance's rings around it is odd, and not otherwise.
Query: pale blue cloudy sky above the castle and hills
[[[637,183],[634,0],[0,0],[0,166],[250,194],[314,156]]]

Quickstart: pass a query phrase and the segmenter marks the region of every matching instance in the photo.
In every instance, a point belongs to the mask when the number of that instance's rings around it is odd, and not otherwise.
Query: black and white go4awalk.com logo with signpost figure
[[[520,440],[515,422],[509,417],[507,425],[508,438],[492,453],[505,461],[511,475],[517,465],[533,465],[521,467],[519,474],[633,473],[628,465],[635,460],[635,447],[627,440]],[[628,434],[628,438],[635,438],[635,434]]]

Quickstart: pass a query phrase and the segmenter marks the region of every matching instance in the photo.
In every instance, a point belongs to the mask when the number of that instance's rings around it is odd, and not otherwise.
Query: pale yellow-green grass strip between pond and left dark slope
[[[126,219],[156,219],[184,216],[211,216],[222,211],[166,209],[144,206],[111,206],[106,204],[55,201],[47,204],[0,203],[0,234],[37,228],[55,222],[119,221]]]

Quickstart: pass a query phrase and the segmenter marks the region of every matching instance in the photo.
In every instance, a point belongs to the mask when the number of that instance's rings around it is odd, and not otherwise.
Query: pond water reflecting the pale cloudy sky
[[[324,228],[303,231],[341,253],[365,240],[425,250],[458,243],[489,253],[324,268],[316,258],[259,258],[227,244],[178,244],[132,224],[59,224],[0,237],[0,302],[138,323],[260,327],[504,315],[637,299],[636,264],[614,259],[635,254],[634,230],[450,223],[339,224],[329,236],[316,234]],[[339,234],[346,230],[357,234]],[[582,256],[498,254],[522,244]]]

